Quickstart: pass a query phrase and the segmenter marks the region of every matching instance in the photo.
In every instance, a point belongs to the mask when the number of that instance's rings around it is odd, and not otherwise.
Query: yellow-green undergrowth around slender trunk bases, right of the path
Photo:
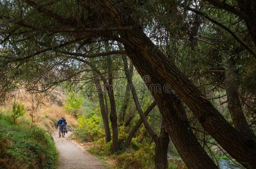
[[[87,151],[105,161],[114,161],[114,166],[110,168],[118,169],[154,169],[155,144],[145,136],[145,127],[136,132],[136,136],[131,140],[128,148],[123,147],[123,143],[128,136],[128,128],[120,126],[118,129],[119,151],[112,154],[112,141],[105,142],[102,117],[96,115],[97,112],[89,116],[78,116],[78,127],[76,128],[73,139],[82,142],[92,142]],[[169,156],[168,168],[186,169],[185,164],[172,152]]]

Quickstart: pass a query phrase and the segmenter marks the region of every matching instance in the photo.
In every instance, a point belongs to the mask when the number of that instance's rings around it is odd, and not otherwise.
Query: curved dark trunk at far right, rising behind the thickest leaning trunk
[[[226,66],[225,79],[227,103],[233,124],[235,128],[241,133],[256,139],[255,135],[253,134],[253,131],[250,129],[250,126],[248,125],[246,118],[243,114],[243,109],[239,100],[238,86],[235,82],[237,75],[233,69],[234,63],[231,60],[226,60],[225,57],[223,57],[223,61]]]

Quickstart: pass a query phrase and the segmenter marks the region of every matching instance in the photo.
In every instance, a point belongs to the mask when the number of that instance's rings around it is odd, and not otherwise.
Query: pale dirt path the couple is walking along
[[[65,135],[65,138],[59,137],[55,131],[53,136],[55,145],[60,152],[60,169],[104,169],[104,166],[97,158],[84,151],[76,145],[68,136],[71,132]]]

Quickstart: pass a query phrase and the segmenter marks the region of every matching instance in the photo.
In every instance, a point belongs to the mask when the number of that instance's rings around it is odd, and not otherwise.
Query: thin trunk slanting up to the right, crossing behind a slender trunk
[[[149,115],[149,112],[154,108],[154,106],[156,106],[156,102],[154,101],[153,103],[151,103],[149,105],[149,107],[146,109],[146,111],[144,112],[144,115],[147,116]],[[128,137],[126,138],[125,140],[125,143],[124,143],[124,147],[128,147],[128,145],[130,144],[131,142],[131,139],[133,138],[134,134],[136,133],[136,131],[138,130],[138,128],[141,126],[142,124],[142,119],[140,118],[137,123],[135,124],[135,126],[133,127],[133,129],[130,131]]]

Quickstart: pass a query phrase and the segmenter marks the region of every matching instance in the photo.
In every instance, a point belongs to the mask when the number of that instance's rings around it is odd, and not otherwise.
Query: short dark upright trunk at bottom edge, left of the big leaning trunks
[[[162,121],[160,134],[156,143],[155,150],[155,169],[167,169],[167,152],[169,146],[169,134],[166,131],[165,121]]]

